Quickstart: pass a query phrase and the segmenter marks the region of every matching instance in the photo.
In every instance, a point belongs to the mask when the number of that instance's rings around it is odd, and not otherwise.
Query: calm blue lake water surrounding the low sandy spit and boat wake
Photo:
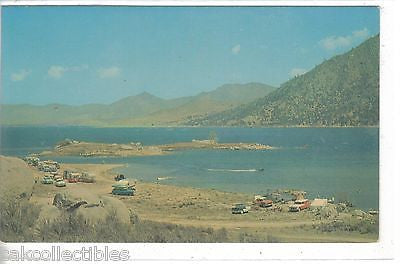
[[[1,153],[24,156],[51,148],[65,138],[145,145],[206,139],[258,142],[272,151],[192,150],[130,158],[54,158],[62,162],[122,163],[125,175],[164,184],[263,193],[269,189],[306,190],[310,196],[347,199],[378,208],[379,130],[377,128],[87,128],[2,127]],[[263,168],[263,171],[235,171]]]

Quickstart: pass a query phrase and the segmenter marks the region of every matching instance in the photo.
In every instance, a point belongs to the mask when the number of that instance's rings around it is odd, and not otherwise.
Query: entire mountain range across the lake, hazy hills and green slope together
[[[379,35],[279,88],[226,84],[176,99],[149,93],[112,104],[2,105],[2,125],[376,126]]]

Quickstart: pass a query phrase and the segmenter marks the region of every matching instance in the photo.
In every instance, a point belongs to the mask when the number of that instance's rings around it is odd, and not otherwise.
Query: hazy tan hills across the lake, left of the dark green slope
[[[2,105],[0,122],[3,125],[178,125],[191,116],[248,103],[274,89],[259,83],[228,84],[211,92],[168,100],[144,92],[109,105]]]

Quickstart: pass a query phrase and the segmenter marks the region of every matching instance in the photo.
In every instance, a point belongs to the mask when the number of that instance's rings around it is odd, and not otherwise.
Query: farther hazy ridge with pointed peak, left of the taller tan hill
[[[6,125],[107,126],[115,119],[140,117],[167,107],[166,100],[143,93],[110,105],[3,105],[0,119]]]

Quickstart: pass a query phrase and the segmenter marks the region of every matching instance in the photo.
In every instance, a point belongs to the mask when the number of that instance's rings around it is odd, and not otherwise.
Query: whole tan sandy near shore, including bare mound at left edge
[[[28,203],[40,208],[38,217],[27,216],[33,223],[32,228],[40,227],[43,222],[52,223],[69,212],[80,215],[89,224],[104,221],[111,213],[120,223],[132,225],[139,221],[142,227],[158,223],[158,226],[166,228],[166,232],[170,227],[221,231],[227,235],[225,242],[365,243],[376,242],[379,238],[378,212],[372,214],[340,204],[326,203],[290,212],[292,200],[275,201],[271,207],[265,208],[255,203],[255,194],[133,179],[128,180],[135,186],[135,195],[118,196],[111,193],[118,174],[114,170],[125,164],[61,163],[58,175],[63,175],[64,171],[81,172],[82,175],[85,172],[94,177],[94,182],[66,182],[65,187],[56,187],[41,183],[44,172],[19,158],[0,156],[0,162],[0,169],[4,172],[1,176],[7,188],[26,188],[24,197]],[[21,185],[24,181],[25,184]],[[18,195],[17,192],[14,194]],[[57,196],[66,197],[62,199],[66,199],[67,207],[57,206]],[[231,208],[237,203],[244,204],[249,212],[232,214]],[[132,222],[132,219],[138,220]],[[40,237],[37,239],[41,241]]]

